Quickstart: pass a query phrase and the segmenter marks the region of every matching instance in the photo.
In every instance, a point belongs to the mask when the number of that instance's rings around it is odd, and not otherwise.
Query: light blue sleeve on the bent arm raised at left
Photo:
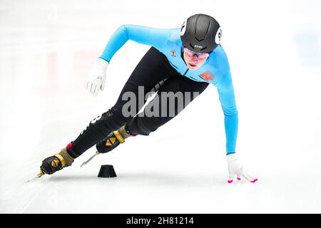
[[[116,51],[118,51],[128,40],[153,46],[157,49],[162,48],[167,43],[171,31],[172,29],[123,25],[113,33],[100,58],[103,58],[109,63]]]

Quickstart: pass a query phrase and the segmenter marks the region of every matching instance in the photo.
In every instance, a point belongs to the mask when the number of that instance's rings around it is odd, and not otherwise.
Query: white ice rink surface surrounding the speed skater
[[[25,183],[116,102],[148,46],[128,41],[98,97],[83,84],[118,26],[223,28],[239,111],[228,184],[223,111],[209,86],[148,137]],[[1,213],[320,213],[321,1],[0,0]],[[118,177],[97,177],[113,165]]]

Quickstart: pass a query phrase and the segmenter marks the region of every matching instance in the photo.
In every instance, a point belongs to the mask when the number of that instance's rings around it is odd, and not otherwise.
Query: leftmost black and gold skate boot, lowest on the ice
[[[51,175],[58,170],[62,170],[64,167],[71,166],[72,163],[73,157],[68,154],[66,148],[63,148],[58,154],[43,160],[40,170],[43,172],[42,175]]]

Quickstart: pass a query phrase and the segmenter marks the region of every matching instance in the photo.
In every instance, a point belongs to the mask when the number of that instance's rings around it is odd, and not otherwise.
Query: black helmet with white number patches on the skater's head
[[[190,16],[180,28],[183,46],[195,52],[213,51],[220,44],[221,37],[222,30],[218,21],[205,14]]]

